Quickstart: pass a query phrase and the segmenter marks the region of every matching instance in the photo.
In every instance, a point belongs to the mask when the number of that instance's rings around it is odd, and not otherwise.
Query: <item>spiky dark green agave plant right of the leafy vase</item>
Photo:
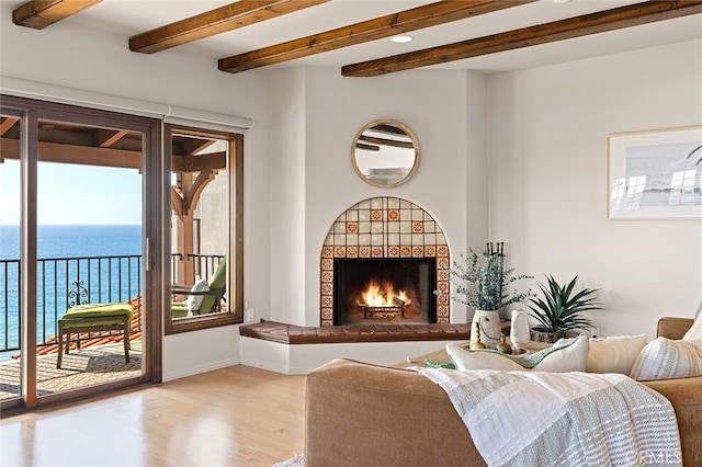
[[[543,298],[539,296],[530,298],[529,308],[532,311],[530,316],[539,321],[539,324],[531,329],[531,340],[553,343],[565,338],[567,331],[591,329],[592,323],[582,314],[602,309],[595,297],[599,288],[584,288],[575,293],[578,276],[563,285],[558,284],[552,275],[546,278],[547,287],[539,284]]]

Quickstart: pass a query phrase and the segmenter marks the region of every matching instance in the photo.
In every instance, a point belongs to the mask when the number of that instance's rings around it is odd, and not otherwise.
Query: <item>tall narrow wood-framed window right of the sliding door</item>
[[[165,141],[172,280],[166,333],[242,322],[244,136],[166,124]]]

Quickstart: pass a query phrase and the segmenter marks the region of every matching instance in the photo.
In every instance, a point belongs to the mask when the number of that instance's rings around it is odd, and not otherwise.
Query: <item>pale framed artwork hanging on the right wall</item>
[[[610,219],[702,219],[702,126],[608,135]]]

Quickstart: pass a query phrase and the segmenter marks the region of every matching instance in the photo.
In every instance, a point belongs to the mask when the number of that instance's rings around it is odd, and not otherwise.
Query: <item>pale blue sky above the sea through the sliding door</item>
[[[139,225],[141,174],[135,169],[39,162],[37,224]],[[20,224],[20,162],[0,163],[0,225]]]

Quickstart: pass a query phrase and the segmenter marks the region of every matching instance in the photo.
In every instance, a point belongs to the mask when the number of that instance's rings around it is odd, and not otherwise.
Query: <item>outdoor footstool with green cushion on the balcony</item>
[[[87,296],[87,289],[82,281],[76,282],[76,305],[72,305],[58,320],[58,357],[56,367],[61,367],[64,356],[64,335],[66,335],[66,354],[70,349],[70,334],[76,333],[76,348],[80,350],[81,332],[121,331],[124,335],[124,357],[129,363],[129,320],[134,315],[134,308],[129,304],[90,304],[78,303],[78,297]]]

